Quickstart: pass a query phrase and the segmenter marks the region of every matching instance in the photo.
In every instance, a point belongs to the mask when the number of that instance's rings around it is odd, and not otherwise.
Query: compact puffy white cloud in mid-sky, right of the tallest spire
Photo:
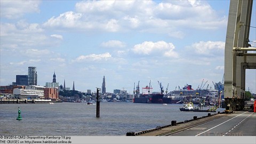
[[[162,55],[166,57],[178,58],[178,54],[174,52],[175,46],[172,43],[166,43],[164,41],[158,41],[156,43],[146,41],[141,44],[134,45],[132,51],[135,54],[141,55]]]

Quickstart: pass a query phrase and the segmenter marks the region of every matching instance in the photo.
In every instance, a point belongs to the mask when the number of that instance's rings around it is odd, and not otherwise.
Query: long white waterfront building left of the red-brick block
[[[44,97],[44,86],[28,85],[25,89],[14,89],[13,95],[17,99],[38,99]]]

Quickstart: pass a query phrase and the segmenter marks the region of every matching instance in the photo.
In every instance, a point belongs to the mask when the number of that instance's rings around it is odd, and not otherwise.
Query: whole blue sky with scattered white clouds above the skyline
[[[135,86],[173,91],[222,82],[229,1],[1,0],[0,84],[37,69],[52,82],[86,92],[102,85],[133,93]],[[255,6],[251,26],[255,25]],[[256,47],[256,30],[250,44]],[[256,93],[256,70],[246,91]],[[212,83],[213,82],[213,83]],[[204,87],[204,88],[205,88]]]

